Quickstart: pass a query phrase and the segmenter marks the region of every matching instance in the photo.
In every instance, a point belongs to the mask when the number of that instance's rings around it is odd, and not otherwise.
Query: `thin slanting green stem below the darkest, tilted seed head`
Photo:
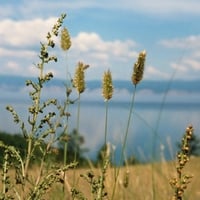
[[[135,102],[135,94],[136,94],[136,85],[135,85],[135,89],[133,91],[133,95],[132,95],[132,99],[131,99],[131,105],[130,105],[130,109],[129,109],[126,132],[125,132],[125,136],[124,136],[124,140],[123,140],[123,144],[122,144],[122,151],[121,151],[121,154],[120,154],[120,165],[122,164],[122,161],[123,161],[123,158],[124,158],[124,155],[125,155],[126,142],[127,142],[127,137],[128,137],[129,127],[130,127],[130,122],[131,122],[131,116],[132,116],[132,113],[133,113],[134,102]],[[118,176],[119,176],[119,171],[120,171],[120,167],[118,167],[118,169],[116,170],[111,200],[114,199],[116,185],[117,185],[117,179],[118,179]]]

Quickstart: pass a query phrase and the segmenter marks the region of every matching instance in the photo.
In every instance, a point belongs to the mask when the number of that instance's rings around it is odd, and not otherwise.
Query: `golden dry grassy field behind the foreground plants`
[[[184,199],[198,200],[200,199],[200,158],[191,158],[184,170],[185,173],[193,176],[191,183],[186,189]],[[80,190],[87,199],[93,199],[89,184],[80,177],[80,174],[86,174],[91,169],[76,169],[75,171],[75,188]],[[100,173],[100,169],[92,169],[96,175]],[[35,170],[34,170],[35,172]],[[114,183],[114,168],[109,168],[106,173],[105,187],[108,192],[108,198],[110,199],[113,183]],[[154,174],[154,183],[152,183],[152,173]],[[68,171],[66,174],[66,180],[69,189],[72,186],[74,171]],[[175,163],[155,163],[146,165],[135,165],[129,167],[123,167],[120,169],[120,174],[117,182],[116,200],[153,200],[153,199],[172,199],[173,190],[169,184],[169,180],[175,175]],[[128,181],[125,185],[125,179]],[[153,195],[153,191],[155,194]],[[57,199],[70,199],[63,194],[63,186],[61,184],[56,185],[49,191],[46,198]],[[105,198],[106,199],[106,198]]]

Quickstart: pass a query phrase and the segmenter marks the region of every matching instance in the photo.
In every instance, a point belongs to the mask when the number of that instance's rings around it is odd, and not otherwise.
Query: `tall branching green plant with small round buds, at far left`
[[[63,172],[77,165],[75,162],[71,162],[65,166],[45,168],[53,145],[58,140],[57,130],[63,128],[64,131],[66,129],[61,122],[66,120],[69,115],[66,111],[66,107],[69,105],[68,101],[62,105],[58,103],[57,99],[49,98],[43,101],[41,98],[45,84],[53,78],[53,73],[46,72],[45,66],[48,63],[57,62],[57,57],[50,55],[49,49],[55,47],[54,38],[59,35],[65,17],[65,14],[61,15],[52,30],[47,33],[46,42],[41,43],[39,63],[35,65],[39,72],[37,80],[26,81],[26,86],[31,88],[29,96],[32,101],[28,107],[27,123],[21,120],[12,106],[6,107],[12,114],[13,121],[20,126],[23,136],[22,144],[24,144],[22,147],[25,153],[21,153],[14,146],[6,145],[1,141],[0,148],[4,153],[1,199],[41,199],[54,183],[63,182],[61,181]],[[37,157],[39,172],[37,177],[30,179],[30,164],[37,151],[40,153],[40,156]],[[16,171],[15,184],[10,181],[8,173],[11,167],[14,167]],[[21,187],[19,188],[18,185]],[[29,193],[24,192],[25,190],[29,190]]]

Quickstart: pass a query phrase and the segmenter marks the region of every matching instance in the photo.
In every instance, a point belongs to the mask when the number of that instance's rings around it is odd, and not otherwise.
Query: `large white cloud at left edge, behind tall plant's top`
[[[17,47],[31,46],[44,40],[47,30],[56,22],[56,18],[36,18],[33,20],[15,21],[5,19],[0,21],[0,45]]]

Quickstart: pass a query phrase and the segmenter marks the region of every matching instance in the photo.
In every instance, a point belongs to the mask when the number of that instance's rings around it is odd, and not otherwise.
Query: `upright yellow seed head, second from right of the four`
[[[102,95],[105,101],[108,101],[112,98],[113,95],[113,83],[112,83],[112,75],[110,70],[104,72],[103,83],[102,83]]]

